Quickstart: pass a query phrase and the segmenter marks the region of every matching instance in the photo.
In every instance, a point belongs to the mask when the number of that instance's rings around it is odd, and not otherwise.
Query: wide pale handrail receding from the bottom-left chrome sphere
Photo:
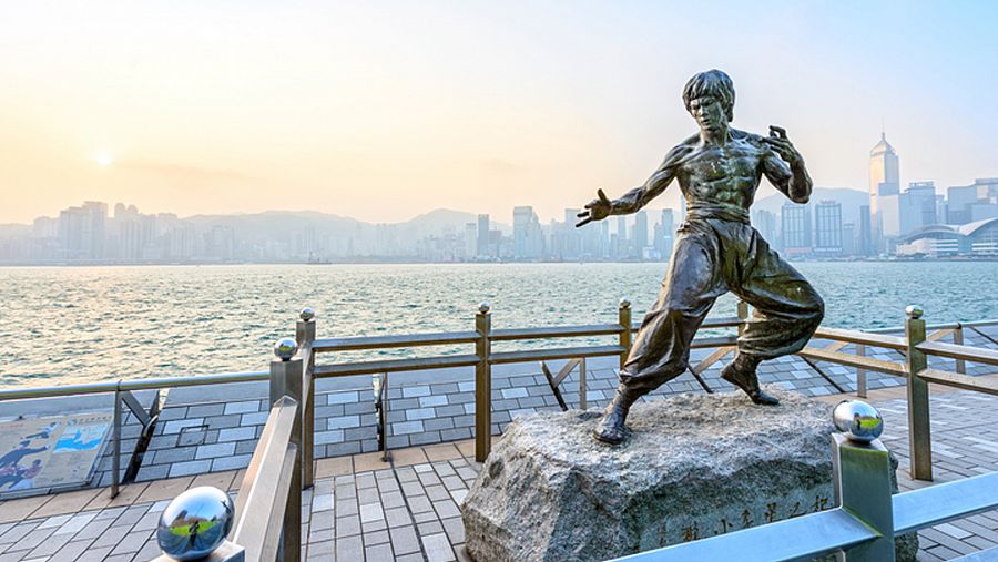
[[[236,498],[238,520],[233,541],[246,549],[246,559],[274,560],[282,544],[284,514],[295,469],[297,447],[289,442],[298,418],[298,402],[279,398],[264,426]]]

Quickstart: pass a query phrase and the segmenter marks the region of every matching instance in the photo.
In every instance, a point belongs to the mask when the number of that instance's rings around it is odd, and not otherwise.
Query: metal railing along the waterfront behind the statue
[[[917,308],[917,307],[916,307]],[[994,379],[984,379],[979,377],[970,377],[966,375],[966,361],[976,361],[988,365],[998,365],[998,352],[975,348],[963,345],[964,329],[971,329],[981,337],[994,339],[979,330],[984,326],[998,325],[998,320],[985,320],[976,323],[961,324],[943,324],[936,326],[925,326],[925,321],[920,318],[920,311],[914,317],[908,318],[904,328],[886,328],[869,331],[847,330],[837,328],[819,328],[815,334],[815,339],[832,340],[832,344],[824,348],[808,346],[798,355],[807,360],[815,370],[823,376],[833,387],[839,391],[845,391],[838,386],[831,376],[824,372],[817,365],[818,361],[826,361],[857,369],[857,395],[866,397],[866,374],[867,371],[883,372],[909,380],[908,401],[909,417],[912,423],[912,457],[913,457],[913,476],[917,479],[931,479],[931,447],[928,431],[928,396],[925,385],[933,382],[946,385],[961,389],[977,390],[981,392],[998,394],[998,384]],[[316,338],[316,324],[314,313],[310,309],[303,310],[302,318],[297,321],[295,334],[296,341],[299,346],[299,355],[303,359],[304,380],[303,380],[303,432],[302,432],[302,454],[303,466],[303,483],[308,487],[313,481],[314,466],[314,422],[315,422],[315,379],[327,377],[345,377],[354,375],[371,375],[371,374],[389,374],[404,372],[422,369],[439,369],[450,367],[473,367],[475,369],[475,458],[483,461],[491,450],[491,368],[493,365],[503,365],[511,362],[526,362],[534,360],[558,360],[573,359],[585,357],[610,357],[618,356],[620,365],[623,366],[630,350],[632,334],[640,327],[640,323],[632,321],[631,306],[628,300],[621,300],[618,306],[618,321],[615,324],[594,324],[583,326],[553,326],[540,328],[491,328],[491,310],[488,304],[479,306],[475,315],[473,330],[455,331],[455,333],[432,333],[432,334],[408,334],[408,335],[390,335],[390,336],[373,336],[373,337],[346,337],[346,338]],[[703,328],[739,328],[739,333],[743,329],[748,320],[748,307],[745,303],[739,303],[737,316],[725,318],[709,318],[704,321]],[[935,331],[926,334],[926,329],[931,328]],[[912,330],[905,337],[892,335],[892,331],[900,329]],[[523,340],[540,339],[559,339],[559,338],[579,338],[579,337],[607,337],[617,336],[617,343],[613,345],[584,346],[584,347],[554,347],[542,349],[526,349],[515,351],[492,351],[492,343],[509,343]],[[939,340],[944,337],[951,337],[953,344],[943,344]],[[731,336],[713,336],[701,337],[693,341],[694,348],[716,348],[705,359],[695,366],[691,366],[690,371],[701,385],[701,387],[711,392],[713,389],[701,377],[701,374],[711,365],[721,360],[725,355],[734,350],[737,338]],[[441,355],[432,357],[401,358],[401,359],[383,359],[373,361],[345,361],[327,365],[316,365],[316,355],[332,354],[353,350],[380,350],[389,348],[416,348],[432,346],[455,346],[473,344],[473,354],[467,355]],[[856,352],[847,354],[843,349],[854,344]],[[868,348],[884,348],[898,351],[912,361],[896,362],[890,360],[867,357]],[[955,359],[955,372],[941,371],[937,369],[928,369],[925,365],[926,355],[936,355]],[[85,385],[70,385],[63,387],[48,388],[24,388],[0,390],[0,401],[27,398],[43,398],[52,396],[72,396],[72,395],[90,395],[90,394],[115,394],[115,411],[120,411],[122,403],[132,407],[135,411],[134,400],[128,400],[128,394],[133,390],[145,389],[167,389],[180,388],[198,385],[216,385],[246,381],[267,380],[266,371],[256,372],[231,372],[217,375],[204,375],[195,377],[177,377],[177,378],[151,378],[135,380],[119,380],[109,382],[94,382]],[[385,388],[387,390],[387,377],[385,378]],[[584,394],[584,387],[581,389]],[[387,392],[385,394],[387,396]],[[585,401],[585,397],[581,397]],[[387,403],[383,403],[387,408]],[[383,411],[384,411],[383,408]],[[135,411],[135,415],[143,419],[143,416]],[[152,419],[154,422],[154,412],[146,412],[145,418]],[[387,417],[383,418],[386,422],[383,427],[387,431]],[[150,423],[146,423],[149,429]],[[113,435],[119,437],[113,439],[114,442],[114,462],[120,458],[120,430],[121,416],[115,416],[113,421]],[[381,436],[379,445],[388,456],[388,440]],[[116,466],[116,464],[115,464]],[[119,486],[120,470],[113,470],[112,476],[112,495],[116,494]]]

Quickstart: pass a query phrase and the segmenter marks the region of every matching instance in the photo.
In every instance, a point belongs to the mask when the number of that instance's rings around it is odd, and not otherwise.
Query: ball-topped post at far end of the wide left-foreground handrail
[[[281,352],[283,339],[278,343]],[[295,347],[295,346],[293,346]],[[286,355],[286,354],[285,354]],[[293,356],[294,351],[288,356]],[[301,358],[287,358],[283,355],[281,360],[271,361],[271,406],[281,397],[287,396],[293,398],[298,408],[302,407],[302,374],[303,361]],[[288,447],[297,450],[295,454],[295,466],[289,474],[291,489],[287,492],[287,507],[284,510],[284,525],[282,530],[282,548],[278,560],[284,562],[297,561],[302,558],[302,412],[295,416],[295,423],[292,427],[291,440]]]

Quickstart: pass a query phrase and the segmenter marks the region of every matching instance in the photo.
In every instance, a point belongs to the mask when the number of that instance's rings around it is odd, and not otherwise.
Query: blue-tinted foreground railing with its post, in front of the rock
[[[890,460],[879,440],[853,442],[843,433],[832,438],[833,509],[615,561],[777,562],[836,553],[841,561],[893,562],[896,537],[998,507],[998,472],[892,495]],[[998,549],[978,554],[998,558]]]

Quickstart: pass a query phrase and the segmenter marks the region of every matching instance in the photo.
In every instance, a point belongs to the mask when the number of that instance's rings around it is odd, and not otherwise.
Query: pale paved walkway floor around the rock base
[[[906,478],[904,389],[872,394],[884,413],[884,442],[897,453],[903,489],[930,486]],[[823,399],[835,402],[841,396]],[[968,391],[931,396],[936,481],[998,470],[998,398]],[[303,559],[465,561],[458,505],[476,477],[472,441],[400,449],[394,464],[378,453],[317,462],[303,494]],[[169,500],[193,486],[235,490],[242,472],[227,471],[0,503],[0,562],[145,561],[157,554],[153,530]],[[918,560],[951,560],[998,545],[998,511],[919,533]]]

